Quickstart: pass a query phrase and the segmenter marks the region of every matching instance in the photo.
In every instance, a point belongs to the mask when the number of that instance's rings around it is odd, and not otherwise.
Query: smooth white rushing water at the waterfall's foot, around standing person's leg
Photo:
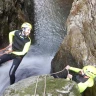
[[[53,57],[50,56],[31,56],[30,58],[26,56],[16,71],[16,82],[30,76],[49,74],[52,58]],[[11,65],[12,61],[9,61],[0,67],[0,93],[2,93],[4,89],[10,85],[9,70]]]

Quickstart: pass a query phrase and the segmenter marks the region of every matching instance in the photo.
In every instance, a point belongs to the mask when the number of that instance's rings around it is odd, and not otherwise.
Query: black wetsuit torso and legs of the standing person
[[[21,34],[21,31],[15,31],[13,36],[12,51],[17,52],[11,54],[4,54],[0,57],[0,65],[8,60],[13,59],[13,64],[9,71],[10,84],[15,82],[15,72],[22,61],[23,57],[26,55],[26,52],[23,54],[18,54],[21,52],[26,45],[26,43],[31,42],[29,37],[25,37]],[[29,46],[28,46],[29,47]],[[27,49],[26,49],[27,50]]]

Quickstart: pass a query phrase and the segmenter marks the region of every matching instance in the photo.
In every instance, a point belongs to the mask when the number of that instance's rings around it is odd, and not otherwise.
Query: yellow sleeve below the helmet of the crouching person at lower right
[[[84,92],[84,90],[87,88],[87,87],[92,87],[94,85],[94,81],[93,79],[89,78],[86,82],[82,83],[78,83],[78,87],[79,87],[79,91],[80,93]]]

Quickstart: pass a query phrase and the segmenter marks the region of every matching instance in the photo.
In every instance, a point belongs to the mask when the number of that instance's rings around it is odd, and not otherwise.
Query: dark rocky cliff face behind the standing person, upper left
[[[0,45],[2,47],[8,43],[10,31],[20,29],[24,21],[33,21],[30,18],[33,12],[33,8],[30,8],[31,4],[31,0],[0,0]]]

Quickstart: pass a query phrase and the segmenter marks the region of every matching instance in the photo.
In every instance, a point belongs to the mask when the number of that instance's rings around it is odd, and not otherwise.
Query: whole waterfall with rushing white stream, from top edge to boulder
[[[16,82],[33,75],[49,74],[51,60],[66,34],[72,0],[34,0],[35,43],[16,71]],[[0,92],[9,85],[12,61],[0,67]]]

